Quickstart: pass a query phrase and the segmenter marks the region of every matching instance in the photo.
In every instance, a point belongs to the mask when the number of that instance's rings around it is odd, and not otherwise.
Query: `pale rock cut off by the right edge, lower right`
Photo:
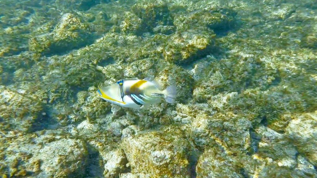
[[[286,134],[294,140],[298,151],[317,164],[317,112],[305,113],[290,121],[285,128]]]

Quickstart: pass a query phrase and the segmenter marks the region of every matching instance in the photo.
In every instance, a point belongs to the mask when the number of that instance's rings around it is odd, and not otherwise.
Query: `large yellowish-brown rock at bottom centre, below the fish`
[[[174,127],[124,138],[121,144],[131,172],[150,177],[189,177],[188,146],[181,130]]]

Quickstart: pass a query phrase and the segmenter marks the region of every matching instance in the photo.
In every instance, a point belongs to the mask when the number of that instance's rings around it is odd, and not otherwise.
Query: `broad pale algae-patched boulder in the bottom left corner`
[[[81,176],[88,155],[83,141],[65,132],[49,130],[20,135],[7,145],[3,154],[3,162],[12,176],[25,176],[23,172],[27,172],[38,177]]]

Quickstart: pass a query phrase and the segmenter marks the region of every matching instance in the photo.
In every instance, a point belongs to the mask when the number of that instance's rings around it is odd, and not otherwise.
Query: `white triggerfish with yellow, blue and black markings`
[[[100,98],[123,107],[147,108],[160,102],[163,98],[167,103],[174,103],[176,86],[168,86],[161,90],[159,84],[149,78],[134,80],[119,80],[118,82],[97,90]]]

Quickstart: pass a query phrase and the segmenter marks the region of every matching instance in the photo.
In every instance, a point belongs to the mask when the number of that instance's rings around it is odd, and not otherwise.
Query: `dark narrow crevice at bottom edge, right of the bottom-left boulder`
[[[103,177],[104,168],[99,164],[102,161],[99,152],[90,145],[87,149],[89,153],[85,170],[87,177]]]

